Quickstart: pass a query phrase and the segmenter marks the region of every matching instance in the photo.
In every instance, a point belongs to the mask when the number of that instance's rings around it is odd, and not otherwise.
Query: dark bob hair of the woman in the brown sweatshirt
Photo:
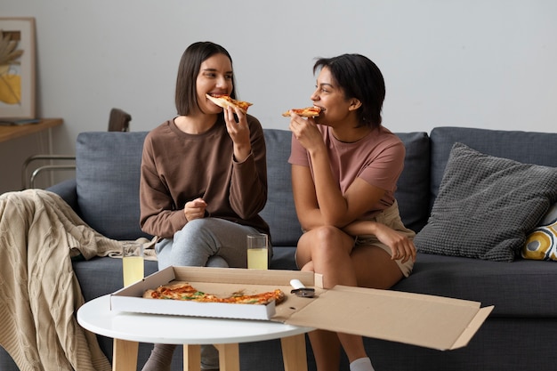
[[[191,44],[183,52],[180,66],[178,67],[178,77],[176,77],[176,110],[178,115],[190,115],[193,109],[198,109],[198,93],[196,81],[201,69],[201,63],[214,54],[224,54],[232,64],[230,53],[219,44],[209,41]],[[232,77],[232,93],[230,97],[236,98],[234,88],[234,78]]]

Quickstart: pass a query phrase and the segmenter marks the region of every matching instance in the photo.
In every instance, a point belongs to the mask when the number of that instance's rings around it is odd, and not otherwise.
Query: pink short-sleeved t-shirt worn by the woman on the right
[[[328,149],[331,171],[343,193],[356,178],[361,178],[385,190],[383,198],[362,215],[363,219],[392,206],[394,191],[397,189],[397,181],[402,173],[406,154],[404,144],[399,137],[389,129],[380,126],[359,141],[345,143],[335,139],[329,126],[318,125],[318,127]],[[294,135],[288,162],[293,165],[310,166],[313,174],[310,155]]]

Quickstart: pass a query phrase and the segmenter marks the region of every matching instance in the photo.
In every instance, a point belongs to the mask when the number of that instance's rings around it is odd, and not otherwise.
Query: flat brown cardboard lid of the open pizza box
[[[285,322],[447,351],[467,345],[492,310],[479,302],[335,286]]]

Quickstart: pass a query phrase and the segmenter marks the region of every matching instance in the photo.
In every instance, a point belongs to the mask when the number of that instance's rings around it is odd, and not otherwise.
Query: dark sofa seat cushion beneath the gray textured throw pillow
[[[495,305],[489,318],[557,316],[555,262],[514,262],[418,253],[414,270],[394,290]]]

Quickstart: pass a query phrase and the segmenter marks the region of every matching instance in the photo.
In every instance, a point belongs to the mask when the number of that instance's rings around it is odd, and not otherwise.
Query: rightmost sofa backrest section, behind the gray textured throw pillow
[[[431,206],[437,198],[450,150],[455,142],[495,157],[523,164],[557,167],[557,133],[535,133],[440,126],[432,129]]]

